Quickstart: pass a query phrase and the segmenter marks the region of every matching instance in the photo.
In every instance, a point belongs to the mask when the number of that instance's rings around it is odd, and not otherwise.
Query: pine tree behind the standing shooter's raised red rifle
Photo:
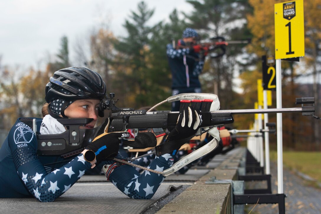
[[[212,37],[224,37],[226,40],[244,40],[250,34],[246,30],[245,15],[251,11],[246,0],[189,0],[194,6],[191,14],[185,14],[190,26],[198,29],[202,40]],[[226,54],[220,58],[207,57],[207,65],[201,75],[204,92],[219,96],[221,107],[230,109],[237,97],[233,92],[233,77],[235,71],[245,64],[240,56],[245,56],[244,45],[229,45]],[[243,62],[242,62],[243,61]]]

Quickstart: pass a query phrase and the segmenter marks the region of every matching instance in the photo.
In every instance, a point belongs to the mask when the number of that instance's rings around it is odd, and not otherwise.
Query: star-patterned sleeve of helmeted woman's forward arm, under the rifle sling
[[[170,154],[156,156],[147,168],[162,172],[173,162],[174,157]],[[165,176],[147,170],[140,174],[129,165],[116,167],[109,176],[120,191],[133,199],[151,199],[164,179]]]

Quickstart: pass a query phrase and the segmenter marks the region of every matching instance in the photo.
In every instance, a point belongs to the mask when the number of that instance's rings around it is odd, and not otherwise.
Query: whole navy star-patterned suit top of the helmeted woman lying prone
[[[37,119],[39,128],[41,121]],[[54,201],[91,167],[82,154],[71,158],[69,163],[44,166],[61,160],[61,157],[38,156],[36,135],[18,119],[0,149],[0,198],[35,197],[41,202]],[[173,161],[170,154],[165,154],[155,158],[148,168],[162,171]],[[100,167],[112,163],[104,162]],[[139,174],[129,165],[116,167],[109,176],[120,191],[134,199],[152,198],[164,179],[163,175],[149,171]]]

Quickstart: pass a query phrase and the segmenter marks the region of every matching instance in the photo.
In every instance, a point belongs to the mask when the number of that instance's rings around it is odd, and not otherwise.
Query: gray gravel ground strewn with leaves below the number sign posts
[[[277,193],[277,165],[271,162],[272,191]],[[266,188],[262,183],[247,183],[250,188]],[[247,187],[247,188],[248,188]],[[285,213],[287,214],[320,214],[321,213],[321,189],[308,186],[308,182],[297,176],[295,173],[283,169],[283,190],[287,195],[285,198]],[[254,204],[246,205],[246,212],[249,213]],[[278,213],[278,204],[257,204],[251,214]]]

